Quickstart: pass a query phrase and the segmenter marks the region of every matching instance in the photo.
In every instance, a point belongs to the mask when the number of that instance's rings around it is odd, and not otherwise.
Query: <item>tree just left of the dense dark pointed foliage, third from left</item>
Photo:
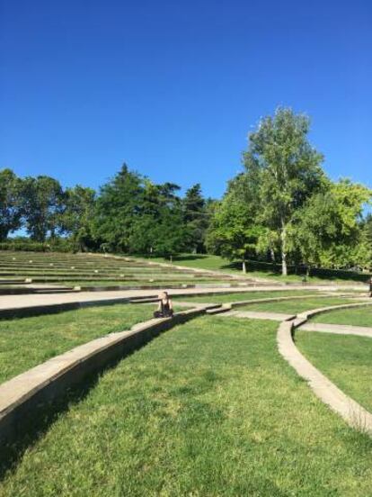
[[[92,188],[75,185],[64,194],[64,212],[61,215],[63,230],[71,236],[75,250],[93,245],[92,222],[95,192]]]

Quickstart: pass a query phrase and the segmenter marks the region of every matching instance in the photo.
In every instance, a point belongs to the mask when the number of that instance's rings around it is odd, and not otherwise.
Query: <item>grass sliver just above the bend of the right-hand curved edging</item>
[[[298,314],[299,312],[311,311],[320,307],[328,307],[331,305],[341,305],[342,303],[356,303],[355,300],[342,297],[310,297],[296,300],[288,300],[282,302],[271,303],[250,303],[239,307],[239,311],[254,311],[254,312],[284,312],[287,314]]]

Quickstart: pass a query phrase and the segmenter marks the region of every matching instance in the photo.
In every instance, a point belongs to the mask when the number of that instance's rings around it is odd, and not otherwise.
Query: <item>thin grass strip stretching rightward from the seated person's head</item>
[[[235,292],[232,294],[214,294],[214,295],[174,295],[175,301],[182,300],[185,302],[198,302],[198,303],[230,303],[245,300],[255,299],[270,299],[275,297],[290,297],[299,295],[313,295],[317,294],[316,290],[275,290],[275,291],[254,291],[254,292]]]

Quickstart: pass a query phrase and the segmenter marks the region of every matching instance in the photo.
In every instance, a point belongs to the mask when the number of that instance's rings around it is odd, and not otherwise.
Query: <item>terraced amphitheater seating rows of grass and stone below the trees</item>
[[[95,254],[0,253],[0,285],[55,283],[123,286],[195,285],[229,282],[233,276],[188,267],[164,266],[134,258]]]

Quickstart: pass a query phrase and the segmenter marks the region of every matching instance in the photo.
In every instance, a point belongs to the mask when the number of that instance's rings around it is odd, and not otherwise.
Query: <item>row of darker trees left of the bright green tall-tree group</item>
[[[68,238],[75,250],[102,249],[170,255],[205,249],[212,201],[193,185],[155,185],[126,165],[96,194],[76,185],[63,189],[49,176],[17,177],[0,171],[0,241],[26,230],[37,242]]]

